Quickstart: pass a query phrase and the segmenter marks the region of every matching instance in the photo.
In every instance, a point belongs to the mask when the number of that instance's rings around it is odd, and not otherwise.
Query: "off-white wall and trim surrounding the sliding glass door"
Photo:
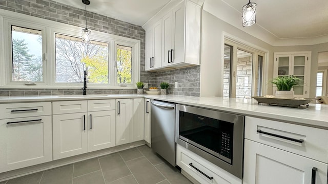
[[[200,65],[200,96],[222,96],[223,90],[223,45],[224,35],[241,41],[252,47],[268,52],[267,68],[273,68],[273,47],[254,36],[237,29],[224,22],[213,14],[202,12],[202,39],[201,39],[201,65]],[[265,80],[272,77],[272,70],[264,74]],[[264,86],[272,87],[272,85]],[[269,94],[272,93],[272,90]],[[264,94],[267,94],[264,92]]]

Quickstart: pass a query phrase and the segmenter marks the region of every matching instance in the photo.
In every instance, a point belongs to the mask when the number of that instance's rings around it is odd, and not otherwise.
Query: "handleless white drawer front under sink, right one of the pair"
[[[89,100],[88,111],[115,110],[115,99],[111,100]]]

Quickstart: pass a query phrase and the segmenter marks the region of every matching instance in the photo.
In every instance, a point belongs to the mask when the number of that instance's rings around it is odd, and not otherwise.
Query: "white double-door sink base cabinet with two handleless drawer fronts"
[[[116,146],[115,100],[53,104],[53,159]],[[88,105],[88,107],[87,107]],[[89,112],[87,111],[89,109]],[[78,113],[68,113],[68,112]]]

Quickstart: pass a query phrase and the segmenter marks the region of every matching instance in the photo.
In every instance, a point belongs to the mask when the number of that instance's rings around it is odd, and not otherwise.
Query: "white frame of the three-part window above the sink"
[[[10,25],[10,26],[9,26]],[[43,82],[34,85],[26,85],[26,82],[12,81],[12,49],[11,49],[11,25],[37,29],[42,31],[43,39]],[[4,42],[0,43],[0,86],[7,88],[80,88],[83,83],[57,83],[55,76],[55,34],[80,37],[82,27],[67,25],[44,18],[26,16],[16,12],[3,10],[0,12],[0,36]],[[88,83],[88,88],[136,88],[135,83],[140,80],[140,40],[113,35],[110,33],[91,30],[91,40],[107,42],[109,45],[109,83]],[[132,81],[131,84],[121,86],[116,81],[116,44],[132,47]],[[11,79],[11,80],[10,80]]]

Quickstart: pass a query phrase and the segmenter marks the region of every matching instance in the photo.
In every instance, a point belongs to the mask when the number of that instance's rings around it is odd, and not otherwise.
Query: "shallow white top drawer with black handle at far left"
[[[51,102],[0,104],[0,119],[51,115]]]

